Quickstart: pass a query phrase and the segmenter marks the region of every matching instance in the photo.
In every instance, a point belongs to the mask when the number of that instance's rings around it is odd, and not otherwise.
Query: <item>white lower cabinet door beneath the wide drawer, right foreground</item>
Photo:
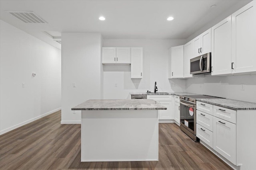
[[[213,149],[236,164],[236,124],[213,117]]]

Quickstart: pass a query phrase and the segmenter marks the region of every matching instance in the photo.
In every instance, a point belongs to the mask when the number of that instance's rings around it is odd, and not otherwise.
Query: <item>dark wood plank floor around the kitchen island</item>
[[[80,162],[80,125],[61,125],[60,111],[0,136],[0,170],[231,169],[174,123],[159,124],[159,161]]]

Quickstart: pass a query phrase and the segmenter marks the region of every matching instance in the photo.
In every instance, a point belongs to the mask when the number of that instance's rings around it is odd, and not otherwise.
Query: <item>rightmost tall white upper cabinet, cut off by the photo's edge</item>
[[[256,72],[256,1],[232,14],[233,73]]]

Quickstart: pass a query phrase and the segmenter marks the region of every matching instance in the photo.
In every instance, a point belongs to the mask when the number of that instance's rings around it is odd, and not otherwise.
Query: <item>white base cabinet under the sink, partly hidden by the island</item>
[[[158,110],[159,120],[173,120],[173,99],[171,95],[147,95],[147,99],[153,99],[161,105],[167,107],[166,110]]]

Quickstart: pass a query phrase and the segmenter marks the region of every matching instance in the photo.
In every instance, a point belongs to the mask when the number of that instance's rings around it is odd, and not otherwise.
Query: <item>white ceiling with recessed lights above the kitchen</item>
[[[0,0],[0,19],[60,49],[45,31],[98,32],[104,39],[186,39],[238,2],[242,7],[250,0]],[[48,24],[23,23],[5,11],[34,11]],[[167,21],[169,16],[174,20]]]

